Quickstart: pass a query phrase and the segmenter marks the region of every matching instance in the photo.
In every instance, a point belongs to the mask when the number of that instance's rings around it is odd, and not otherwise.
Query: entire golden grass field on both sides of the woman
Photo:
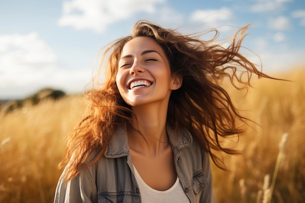
[[[229,172],[212,166],[218,203],[267,203],[273,174],[272,203],[305,202],[305,69],[272,76],[293,82],[260,79],[247,95],[232,91],[238,109],[260,126],[249,123],[236,147],[241,155],[223,155]],[[1,203],[53,202],[65,137],[83,111],[82,96],[66,96],[0,112]]]

